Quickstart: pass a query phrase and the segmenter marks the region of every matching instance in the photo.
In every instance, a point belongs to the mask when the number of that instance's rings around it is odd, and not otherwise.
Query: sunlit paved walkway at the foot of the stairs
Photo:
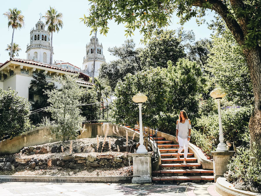
[[[3,182],[0,195],[155,195],[220,196],[214,183],[110,184],[110,183],[42,183]]]

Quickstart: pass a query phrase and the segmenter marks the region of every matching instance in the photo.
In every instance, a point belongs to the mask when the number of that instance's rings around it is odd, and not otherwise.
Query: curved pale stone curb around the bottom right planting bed
[[[235,189],[233,187],[233,184],[226,181],[226,178],[224,178],[224,177],[219,177],[217,179],[215,191],[217,193],[219,193],[220,195],[224,195],[224,196],[232,196],[232,195],[236,195],[236,196],[245,196],[245,195],[247,195],[247,196],[261,196],[261,193],[253,193],[253,192],[248,192],[248,191],[245,191],[245,190]]]

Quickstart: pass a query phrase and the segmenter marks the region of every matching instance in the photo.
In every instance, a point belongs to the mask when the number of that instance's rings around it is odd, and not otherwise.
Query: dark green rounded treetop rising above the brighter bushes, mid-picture
[[[176,64],[178,59],[185,56],[183,45],[175,37],[175,30],[163,31],[153,37],[139,55],[142,66],[165,68],[168,60]]]

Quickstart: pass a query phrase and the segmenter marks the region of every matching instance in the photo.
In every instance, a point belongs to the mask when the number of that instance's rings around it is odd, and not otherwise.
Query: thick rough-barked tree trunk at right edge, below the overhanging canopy
[[[261,48],[245,48],[250,78],[253,85],[255,105],[249,120],[250,146],[261,153]],[[256,156],[261,161],[261,154]]]

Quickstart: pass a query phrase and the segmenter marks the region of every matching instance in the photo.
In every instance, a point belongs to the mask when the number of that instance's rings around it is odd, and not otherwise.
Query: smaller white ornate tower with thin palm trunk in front
[[[94,51],[95,36],[92,36],[90,43],[86,44],[86,57],[84,57],[82,63],[82,69],[84,72],[92,77],[93,75],[93,60],[95,54],[95,71],[94,77],[98,77],[100,65],[105,62],[103,55],[102,43],[99,44],[98,38],[96,38],[96,50]]]

